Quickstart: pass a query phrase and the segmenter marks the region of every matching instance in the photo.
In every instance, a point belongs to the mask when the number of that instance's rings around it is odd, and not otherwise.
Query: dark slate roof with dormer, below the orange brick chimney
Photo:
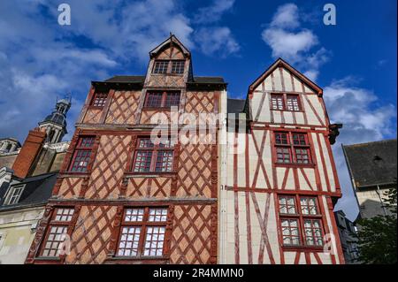
[[[0,211],[14,210],[48,202],[56,181],[57,171],[22,179],[21,182],[11,186],[16,187],[25,184],[25,188],[20,195],[19,202],[13,205],[0,206]]]

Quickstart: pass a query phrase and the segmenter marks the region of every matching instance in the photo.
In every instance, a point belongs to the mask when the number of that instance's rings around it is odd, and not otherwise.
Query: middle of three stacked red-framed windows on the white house
[[[306,133],[274,133],[276,160],[279,164],[311,164],[310,143]]]

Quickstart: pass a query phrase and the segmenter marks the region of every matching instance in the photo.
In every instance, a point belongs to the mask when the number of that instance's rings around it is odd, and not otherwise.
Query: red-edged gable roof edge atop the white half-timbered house
[[[305,84],[307,84],[308,87],[311,88],[312,90],[314,90],[318,95],[323,94],[322,88],[318,87],[317,84],[315,84],[312,80],[310,80],[305,75],[303,75],[302,72],[297,71],[293,66],[287,64],[287,62],[280,57],[265,72],[263,72],[256,80],[254,80],[253,83],[250,84],[249,93],[251,93],[261,82],[263,82],[263,80],[265,80],[265,78],[268,75],[270,75],[279,66],[283,66],[289,72],[292,72],[297,78],[299,78]]]

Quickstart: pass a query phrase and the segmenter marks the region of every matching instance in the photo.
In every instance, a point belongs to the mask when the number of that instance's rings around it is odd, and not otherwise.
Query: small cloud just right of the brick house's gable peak
[[[205,27],[198,30],[195,39],[199,48],[206,54],[218,53],[226,57],[240,50],[228,27]]]

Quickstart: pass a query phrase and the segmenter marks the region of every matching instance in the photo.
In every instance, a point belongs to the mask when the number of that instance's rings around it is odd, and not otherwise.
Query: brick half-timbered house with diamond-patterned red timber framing
[[[226,84],[188,88],[191,56],[174,35],[149,55],[142,80],[92,82],[26,263],[218,263],[218,133],[210,144],[151,144],[157,125],[142,117],[151,114],[149,93],[162,95],[157,111],[175,104],[180,113],[218,113]],[[156,60],[179,63],[153,74]],[[59,209],[73,213],[59,220]],[[65,232],[61,254],[53,248]]]

